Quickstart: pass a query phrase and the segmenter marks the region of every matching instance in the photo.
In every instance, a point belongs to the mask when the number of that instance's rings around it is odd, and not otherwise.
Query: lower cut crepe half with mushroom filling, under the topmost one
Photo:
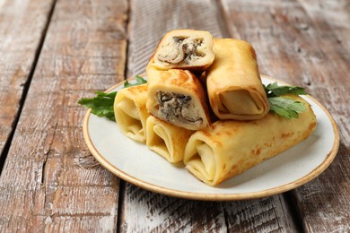
[[[146,106],[152,116],[189,130],[209,125],[206,92],[193,73],[148,67],[147,76]]]

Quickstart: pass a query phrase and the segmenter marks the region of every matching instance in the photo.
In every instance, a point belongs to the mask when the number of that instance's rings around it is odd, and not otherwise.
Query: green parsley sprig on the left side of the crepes
[[[136,75],[135,79],[135,83],[130,83],[128,81],[124,82],[123,88],[138,86],[147,82],[139,75]],[[117,91],[112,91],[109,93],[96,91],[95,94],[95,97],[80,99],[78,103],[87,108],[92,108],[92,114],[97,116],[105,116],[109,118],[109,120],[114,121],[116,118],[114,116],[113,105],[114,99],[116,99]]]

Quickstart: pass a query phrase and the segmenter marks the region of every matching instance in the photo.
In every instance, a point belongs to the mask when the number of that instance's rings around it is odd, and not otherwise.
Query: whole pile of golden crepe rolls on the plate
[[[298,118],[268,113],[257,57],[249,43],[214,39],[211,47],[212,38],[203,37],[205,54],[211,56],[213,48],[214,58],[204,56],[207,59],[198,59],[201,63],[197,64],[197,58],[182,59],[192,56],[186,41],[192,41],[193,34],[197,31],[166,34],[147,65],[148,83],[118,91],[114,108],[123,134],[146,143],[171,163],[183,161],[199,180],[217,186],[312,133],[316,117],[299,96],[287,96],[307,108]],[[182,60],[177,56],[163,59],[181,49]],[[206,85],[194,74],[198,71]],[[217,119],[213,124],[211,110]]]

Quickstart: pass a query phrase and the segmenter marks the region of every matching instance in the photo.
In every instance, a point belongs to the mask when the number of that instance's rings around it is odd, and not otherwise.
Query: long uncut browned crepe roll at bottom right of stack
[[[185,149],[186,168],[209,186],[216,186],[306,139],[316,128],[310,105],[299,118],[269,113],[252,121],[217,121],[197,131]]]

